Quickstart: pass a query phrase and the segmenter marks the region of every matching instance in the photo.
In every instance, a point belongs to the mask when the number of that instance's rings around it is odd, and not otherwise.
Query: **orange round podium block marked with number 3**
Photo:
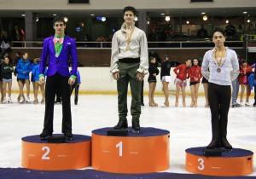
[[[222,156],[204,156],[206,147],[186,149],[186,170],[207,176],[245,176],[253,173],[253,152],[233,148]]]

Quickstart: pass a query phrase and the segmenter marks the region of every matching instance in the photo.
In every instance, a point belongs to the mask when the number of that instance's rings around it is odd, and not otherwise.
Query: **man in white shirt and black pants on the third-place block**
[[[212,42],[215,47],[204,55],[201,66],[202,75],[209,81],[208,99],[212,114],[212,141],[207,149],[224,147],[230,150],[232,146],[227,140],[230,86],[239,74],[239,65],[236,52],[224,46],[223,30],[214,30]]]

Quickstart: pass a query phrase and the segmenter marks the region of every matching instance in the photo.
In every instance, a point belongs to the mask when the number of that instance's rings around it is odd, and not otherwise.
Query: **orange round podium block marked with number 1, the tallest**
[[[113,173],[150,173],[169,168],[168,130],[141,128],[141,134],[107,136],[109,128],[92,131],[92,167]]]

